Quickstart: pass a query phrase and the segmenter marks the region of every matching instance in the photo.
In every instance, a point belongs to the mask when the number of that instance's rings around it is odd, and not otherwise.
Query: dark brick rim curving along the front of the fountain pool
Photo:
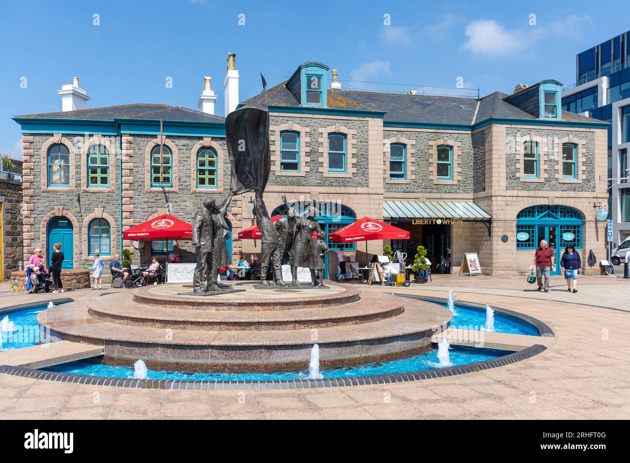
[[[105,376],[74,375],[68,373],[54,373],[44,370],[32,370],[9,365],[0,365],[0,374],[21,376],[33,379],[44,379],[59,382],[74,382],[78,384],[93,384],[95,386],[138,387],[142,389],[199,389],[208,391],[270,391],[280,389],[317,389],[320,387],[369,386],[371,384],[392,384],[396,382],[411,382],[423,379],[442,378],[466,373],[480,372],[491,368],[502,367],[510,363],[520,362],[525,358],[534,357],[546,350],[545,346],[534,345],[503,357],[484,360],[483,362],[467,363],[457,367],[447,367],[420,372],[397,373],[387,375],[350,376],[323,379],[289,379],[270,381],[206,381],[206,380],[163,380],[163,379],[130,379],[112,378]]]

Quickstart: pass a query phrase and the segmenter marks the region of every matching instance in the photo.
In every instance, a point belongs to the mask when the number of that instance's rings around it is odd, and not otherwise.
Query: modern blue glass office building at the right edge
[[[576,83],[563,88],[564,111],[609,122],[609,218],[613,246],[630,236],[630,31],[581,52],[576,57]]]

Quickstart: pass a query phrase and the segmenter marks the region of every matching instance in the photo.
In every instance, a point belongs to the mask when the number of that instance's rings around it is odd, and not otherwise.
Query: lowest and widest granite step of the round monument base
[[[381,304],[397,305],[401,298],[379,294]],[[249,368],[287,368],[308,363],[318,344],[323,362],[340,365],[396,358],[427,348],[431,336],[446,328],[452,314],[421,300],[404,300],[398,316],[355,325],[302,329],[203,330],[169,329],[112,323],[89,314],[85,302],[71,302],[38,314],[54,339],[103,346],[117,361],[142,358],[147,365],[179,368],[197,365]]]

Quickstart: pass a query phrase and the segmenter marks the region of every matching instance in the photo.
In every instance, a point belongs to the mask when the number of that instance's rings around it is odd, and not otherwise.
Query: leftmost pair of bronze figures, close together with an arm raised
[[[225,216],[233,196],[232,191],[221,207],[217,207],[215,198],[207,198],[203,200],[203,207],[195,214],[192,236],[197,254],[197,267],[193,277],[195,294],[220,291],[217,284],[219,268],[232,263],[227,251],[226,237],[229,227]]]

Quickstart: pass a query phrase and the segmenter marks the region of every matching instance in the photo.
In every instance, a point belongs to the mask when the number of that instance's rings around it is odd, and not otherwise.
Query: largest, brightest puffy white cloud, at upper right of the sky
[[[464,32],[468,37],[464,48],[474,53],[503,55],[523,49],[529,44],[525,35],[505,30],[493,20],[477,20],[469,23]]]

